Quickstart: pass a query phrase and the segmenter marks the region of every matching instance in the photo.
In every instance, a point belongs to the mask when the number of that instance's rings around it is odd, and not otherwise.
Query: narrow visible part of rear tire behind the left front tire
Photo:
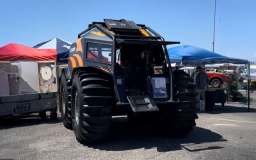
[[[67,79],[65,73],[61,74],[60,83],[60,112],[63,125],[67,129],[72,129],[71,120],[71,88],[72,83]]]

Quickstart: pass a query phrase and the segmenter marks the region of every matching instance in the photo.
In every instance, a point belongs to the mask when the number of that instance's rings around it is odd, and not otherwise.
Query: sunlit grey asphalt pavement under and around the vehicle
[[[111,137],[97,145],[76,141],[61,120],[36,115],[0,122],[0,159],[255,159],[256,103],[216,105],[198,113],[194,131],[184,138],[156,136],[151,124],[113,117]]]

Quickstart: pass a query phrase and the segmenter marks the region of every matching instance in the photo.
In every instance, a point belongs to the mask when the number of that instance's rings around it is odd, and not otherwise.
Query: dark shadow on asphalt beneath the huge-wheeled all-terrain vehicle
[[[201,127],[194,127],[194,131],[183,138],[157,136],[152,124],[134,124],[126,117],[113,118],[111,130],[108,141],[88,147],[107,151],[156,148],[158,152],[181,149],[198,152],[223,148],[224,145],[221,146],[218,142],[227,141],[220,134]]]

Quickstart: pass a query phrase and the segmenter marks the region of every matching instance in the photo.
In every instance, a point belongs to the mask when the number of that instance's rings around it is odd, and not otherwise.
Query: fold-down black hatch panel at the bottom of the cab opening
[[[154,100],[145,96],[127,96],[129,103],[131,104],[132,111],[134,113],[147,112],[147,111],[159,111]]]

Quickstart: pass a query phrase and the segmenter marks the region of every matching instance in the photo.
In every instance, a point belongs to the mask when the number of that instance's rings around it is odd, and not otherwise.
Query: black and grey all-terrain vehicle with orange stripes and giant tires
[[[156,124],[156,132],[184,136],[193,130],[195,86],[170,65],[164,38],[129,20],[93,22],[70,47],[63,68],[63,124],[80,143],[109,136],[111,116],[127,115]]]

